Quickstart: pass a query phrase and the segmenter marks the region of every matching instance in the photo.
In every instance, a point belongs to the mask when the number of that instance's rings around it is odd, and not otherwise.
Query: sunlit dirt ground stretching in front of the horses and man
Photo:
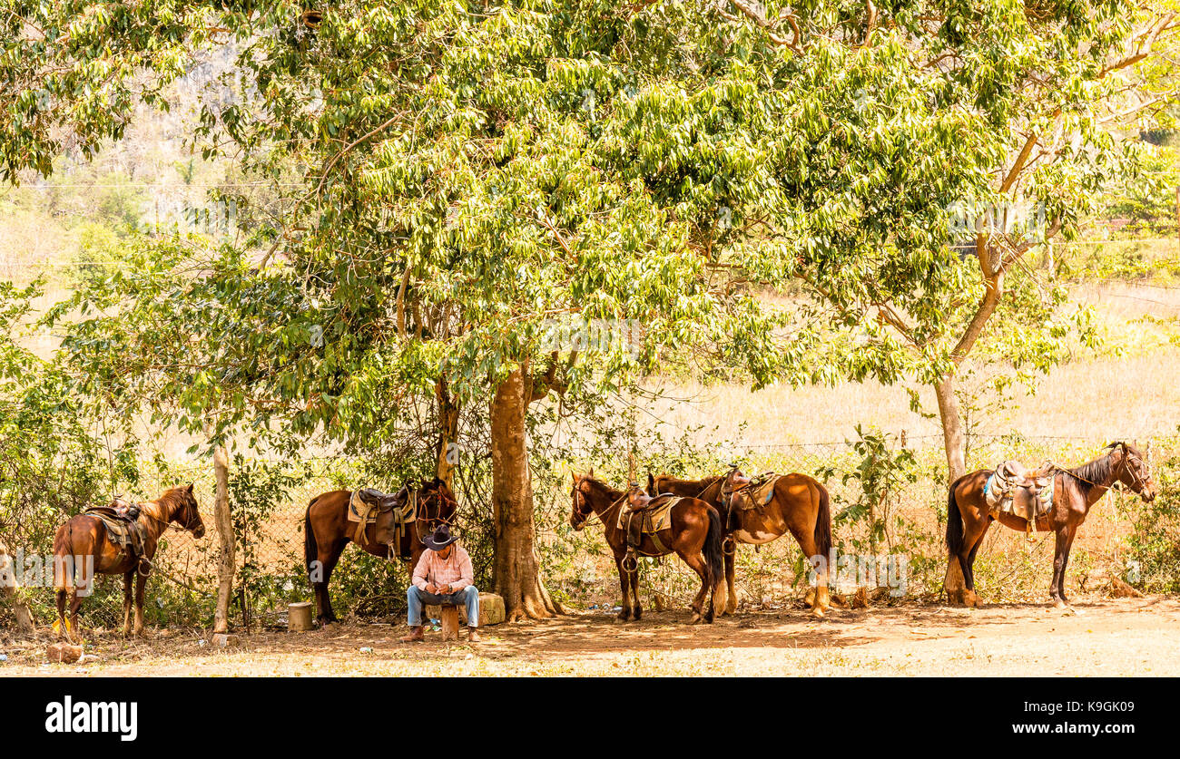
[[[404,626],[334,625],[243,635],[230,651],[198,634],[101,636],[76,665],[44,664],[40,641],[0,642],[0,675],[1180,675],[1180,600],[1090,599],[982,609],[906,605],[760,609],[714,625],[687,612],[616,622],[584,612],[484,629],[483,642],[399,644]]]

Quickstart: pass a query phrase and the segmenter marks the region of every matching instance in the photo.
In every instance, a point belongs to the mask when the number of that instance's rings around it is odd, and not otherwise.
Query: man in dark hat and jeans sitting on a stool
[[[471,569],[471,556],[455,546],[459,540],[442,524],[434,534],[424,539],[424,550],[418,566],[414,567],[414,582],[406,590],[406,602],[409,608],[409,634],[401,639],[408,644],[424,640],[422,608],[427,603],[451,603],[467,607],[467,640],[479,640],[476,628],[479,627],[479,590],[471,582],[474,573]]]

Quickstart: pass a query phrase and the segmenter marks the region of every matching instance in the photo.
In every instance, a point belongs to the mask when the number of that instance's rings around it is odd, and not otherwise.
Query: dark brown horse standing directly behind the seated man
[[[409,495],[407,487],[398,490],[392,496],[395,502],[394,508],[405,506]],[[356,542],[354,539],[358,523],[348,521],[348,501],[352,497],[352,490],[322,493],[312,499],[303,517],[303,557],[307,562],[308,579],[315,592],[316,621],[320,625],[336,621],[336,614],[332,610],[332,599],[328,596],[328,581],[345,547]],[[366,553],[381,559],[392,557],[389,550],[395,547],[396,556],[399,559],[408,556],[409,566],[413,567],[422,555],[422,536],[433,533],[439,524],[450,524],[458,508],[454,494],[442,480],[435,477],[430,482],[424,481],[418,490],[418,515],[413,528],[402,530],[400,541],[393,534],[388,534],[388,529],[379,517],[378,522],[365,527],[365,542],[356,544]]]

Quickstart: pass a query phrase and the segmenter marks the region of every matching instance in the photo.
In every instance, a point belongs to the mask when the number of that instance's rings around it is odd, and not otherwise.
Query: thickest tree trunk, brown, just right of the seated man
[[[492,425],[492,514],[496,520],[496,593],[507,621],[560,613],[540,581],[532,516],[532,475],[525,444],[525,370],[517,369],[496,389]]]

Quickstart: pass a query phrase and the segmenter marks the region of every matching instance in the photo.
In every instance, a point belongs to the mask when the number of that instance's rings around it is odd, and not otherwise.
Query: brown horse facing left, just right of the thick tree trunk
[[[570,496],[573,500],[573,510],[570,514],[570,526],[581,530],[585,527],[590,514],[598,516],[605,530],[607,543],[615,554],[618,582],[623,590],[623,610],[618,613],[618,619],[625,622],[634,613],[638,620],[643,615],[638,576],[636,567],[627,566],[627,535],[625,530],[618,527],[618,514],[628,494],[595,480],[594,469],[581,477],[577,475],[572,477],[573,488]],[[645,556],[663,556],[675,552],[683,559],[684,563],[701,578],[701,589],[693,599],[693,623],[702,619],[712,622],[714,602],[716,606],[725,606],[726,599],[726,588],[721,581],[721,517],[716,509],[704,501],[688,497],[673,506],[669,522],[670,527],[655,534],[658,543],[653,540],[653,535],[642,535],[637,552]],[[709,608],[702,615],[704,598],[710,590]]]

